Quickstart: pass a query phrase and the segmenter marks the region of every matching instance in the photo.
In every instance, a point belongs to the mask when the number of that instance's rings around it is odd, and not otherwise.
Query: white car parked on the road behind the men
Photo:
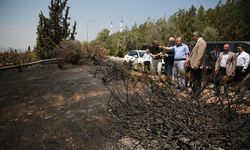
[[[124,56],[124,61],[131,63],[133,69],[142,71],[144,66],[143,55],[146,50],[131,50]]]

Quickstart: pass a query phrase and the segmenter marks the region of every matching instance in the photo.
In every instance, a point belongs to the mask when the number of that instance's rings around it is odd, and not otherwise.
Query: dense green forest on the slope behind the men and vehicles
[[[191,6],[188,10],[180,9],[168,19],[156,21],[148,19],[145,23],[136,23],[123,32],[110,34],[109,29],[98,33],[96,41],[109,50],[110,55],[123,56],[131,49],[144,49],[152,39],[166,44],[170,36],[182,37],[192,41],[192,33],[200,31],[209,41],[250,40],[250,1],[227,0],[219,2],[215,8],[205,10],[203,6]]]

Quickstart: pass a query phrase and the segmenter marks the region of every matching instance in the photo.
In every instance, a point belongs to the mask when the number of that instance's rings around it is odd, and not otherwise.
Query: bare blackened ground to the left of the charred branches
[[[0,72],[0,149],[109,149],[108,91],[88,69]]]

